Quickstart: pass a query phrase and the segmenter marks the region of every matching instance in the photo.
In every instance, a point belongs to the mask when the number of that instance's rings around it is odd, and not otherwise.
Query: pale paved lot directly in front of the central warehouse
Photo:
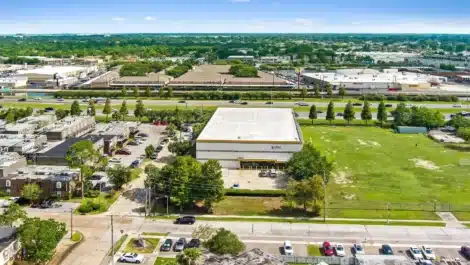
[[[275,190],[287,185],[284,175],[277,172],[276,177],[262,177],[261,170],[251,169],[222,169],[224,187],[232,188],[238,185],[240,189]]]

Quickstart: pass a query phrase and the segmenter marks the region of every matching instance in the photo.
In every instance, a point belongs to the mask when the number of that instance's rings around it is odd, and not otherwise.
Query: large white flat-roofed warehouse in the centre
[[[218,108],[196,140],[196,158],[224,168],[277,168],[302,143],[292,109]]]

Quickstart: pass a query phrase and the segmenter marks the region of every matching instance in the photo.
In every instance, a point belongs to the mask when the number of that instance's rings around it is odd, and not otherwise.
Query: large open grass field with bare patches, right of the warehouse
[[[390,202],[390,209],[413,210],[392,211],[391,218],[437,219],[434,210],[468,203],[470,168],[461,162],[470,161],[469,153],[425,135],[374,127],[302,126],[302,132],[305,142],[335,162],[328,208],[336,209],[329,217],[385,218]]]

